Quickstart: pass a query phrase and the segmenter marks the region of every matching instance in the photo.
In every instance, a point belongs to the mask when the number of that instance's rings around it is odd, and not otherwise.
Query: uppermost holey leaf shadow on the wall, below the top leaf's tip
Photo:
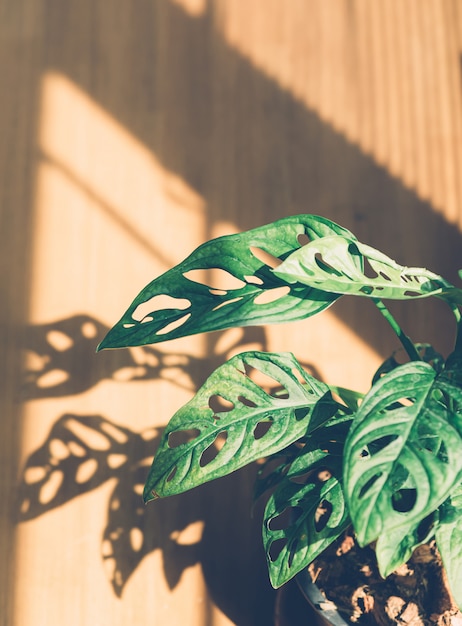
[[[62,397],[83,393],[103,380],[170,381],[194,391],[235,350],[263,349],[263,328],[214,333],[209,356],[163,352],[151,346],[105,350],[95,355],[98,339],[109,327],[86,314],[47,324],[30,325],[23,334],[25,368],[21,398]]]

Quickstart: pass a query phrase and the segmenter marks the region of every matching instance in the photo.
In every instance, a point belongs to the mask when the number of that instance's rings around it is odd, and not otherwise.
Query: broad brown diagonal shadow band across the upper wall
[[[216,30],[212,0],[199,17],[169,0],[119,7],[117,19],[126,24],[123,72],[103,43],[114,18],[98,23],[99,38],[91,35],[102,5],[81,0],[72,12],[47,2],[53,10],[44,12],[46,66],[80,85],[201,194],[210,226],[232,216],[243,230],[318,213],[403,264],[427,266],[431,257],[432,270],[457,280],[458,229],[228,45]],[[83,35],[91,46],[63,54],[62,38]],[[137,46],[139,40],[146,45]],[[400,304],[396,309],[404,311]],[[379,353],[390,351],[358,302],[342,303],[341,316]],[[421,315],[413,325],[420,334]]]

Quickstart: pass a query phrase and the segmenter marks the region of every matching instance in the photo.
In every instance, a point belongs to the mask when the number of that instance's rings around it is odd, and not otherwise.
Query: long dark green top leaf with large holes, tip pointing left
[[[315,315],[338,294],[288,284],[271,272],[271,258],[284,259],[311,240],[354,235],[330,220],[297,215],[213,239],[149,283],[98,349],[158,343],[235,326],[288,322]],[[264,254],[269,258],[265,260]],[[269,264],[268,264],[269,263]],[[214,285],[210,271],[226,273],[233,288]],[[201,275],[207,274],[209,275]],[[213,277],[212,277],[213,278]]]

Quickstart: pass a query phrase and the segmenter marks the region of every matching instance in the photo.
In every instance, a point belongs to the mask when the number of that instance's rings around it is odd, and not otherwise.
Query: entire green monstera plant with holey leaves
[[[213,272],[226,273],[232,288],[217,287]],[[326,218],[296,215],[201,245],[141,291],[98,349],[303,320],[345,296],[372,300],[406,361],[388,359],[363,395],[317,380],[290,353],[237,354],[172,417],[144,499],[264,460],[255,495],[269,493],[263,543],[274,587],[352,526],[360,545],[374,544],[383,577],[435,538],[461,606],[460,289]],[[414,343],[384,304],[429,297],[455,318],[446,360]],[[287,512],[289,523],[277,523]]]

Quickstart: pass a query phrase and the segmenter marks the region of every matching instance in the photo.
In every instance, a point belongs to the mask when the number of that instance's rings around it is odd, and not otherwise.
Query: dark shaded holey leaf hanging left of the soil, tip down
[[[341,456],[322,447],[315,437],[308,441],[268,499],[263,544],[275,588],[307,567],[350,524],[339,480]]]

